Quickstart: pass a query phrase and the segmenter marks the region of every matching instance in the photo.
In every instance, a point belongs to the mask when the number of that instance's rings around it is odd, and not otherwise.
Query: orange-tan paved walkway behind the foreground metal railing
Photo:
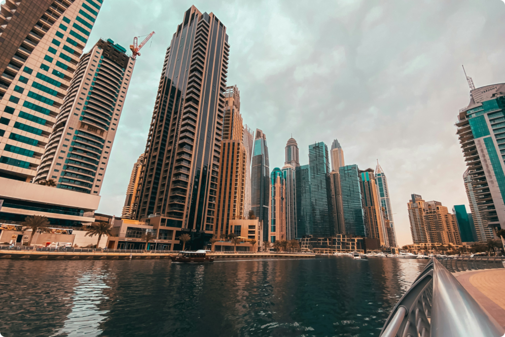
[[[505,269],[463,271],[452,275],[505,328]]]

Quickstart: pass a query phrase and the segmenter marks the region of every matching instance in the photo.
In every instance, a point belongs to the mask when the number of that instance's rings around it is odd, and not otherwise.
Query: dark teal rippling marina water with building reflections
[[[0,260],[0,335],[377,336],[427,260]]]

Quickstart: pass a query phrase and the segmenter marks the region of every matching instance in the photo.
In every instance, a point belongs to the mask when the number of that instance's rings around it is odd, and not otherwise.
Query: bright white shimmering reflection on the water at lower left
[[[102,329],[100,323],[106,319],[108,310],[99,310],[98,306],[108,297],[104,296],[104,289],[109,288],[105,283],[107,270],[96,268],[86,271],[77,279],[74,294],[70,297],[73,304],[63,327],[53,336],[98,336]]]

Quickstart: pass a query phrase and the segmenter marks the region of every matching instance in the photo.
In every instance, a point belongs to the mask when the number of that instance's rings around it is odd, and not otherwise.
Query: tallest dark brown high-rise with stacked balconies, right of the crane
[[[184,13],[165,56],[135,201],[136,220],[160,216],[164,227],[188,231],[193,248],[214,233],[229,49],[213,13]]]

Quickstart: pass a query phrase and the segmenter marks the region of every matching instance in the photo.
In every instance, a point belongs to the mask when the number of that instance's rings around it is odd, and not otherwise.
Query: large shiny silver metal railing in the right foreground
[[[505,330],[432,259],[401,297],[380,337],[498,337]]]

